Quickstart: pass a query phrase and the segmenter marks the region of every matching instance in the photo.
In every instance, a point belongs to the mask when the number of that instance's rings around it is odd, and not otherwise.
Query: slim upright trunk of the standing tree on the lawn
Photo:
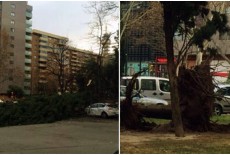
[[[181,112],[179,107],[179,94],[177,86],[176,66],[174,63],[174,51],[173,51],[173,2],[166,2],[163,4],[164,9],[164,29],[165,29],[165,43],[167,53],[167,67],[170,81],[170,93],[171,93],[171,106],[172,106],[172,120],[175,128],[175,135],[177,137],[184,137],[184,129],[181,118]]]

